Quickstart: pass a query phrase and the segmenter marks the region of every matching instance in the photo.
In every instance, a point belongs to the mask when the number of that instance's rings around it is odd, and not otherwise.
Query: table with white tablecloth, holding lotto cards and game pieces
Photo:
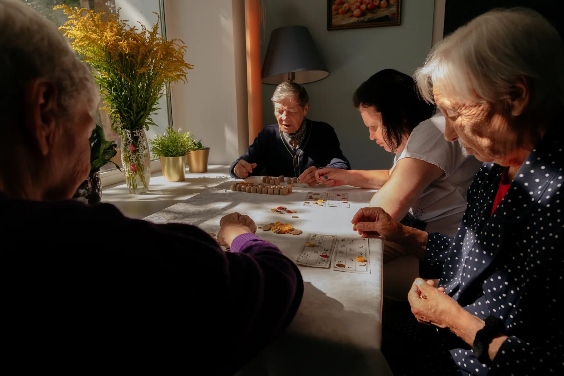
[[[259,182],[257,176],[245,180]],[[302,229],[303,235],[281,235],[260,229],[257,235],[296,260],[307,233],[358,236],[352,232],[350,221],[360,207],[368,205],[375,192],[319,185],[294,187],[292,194],[272,196],[231,192],[233,181],[237,180],[223,182],[146,219],[156,223],[189,223],[214,233],[219,231],[219,219],[234,211],[248,214],[258,226],[277,220],[289,222]],[[307,192],[328,191],[348,193],[351,207],[303,206]],[[277,206],[286,206],[297,213],[279,214],[270,210]],[[299,218],[291,218],[292,215]],[[300,266],[305,292],[296,317],[284,335],[239,374],[391,374],[380,352],[382,245],[381,239],[370,240],[370,274]]]

